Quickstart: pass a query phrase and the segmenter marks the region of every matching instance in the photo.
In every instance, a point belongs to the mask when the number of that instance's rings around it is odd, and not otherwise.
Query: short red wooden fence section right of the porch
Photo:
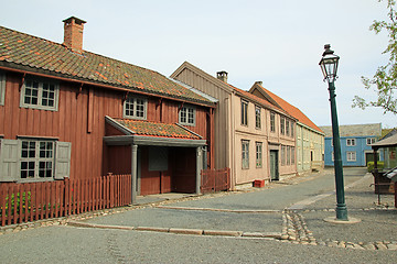
[[[230,168],[203,169],[201,172],[201,193],[214,193],[230,188]]]

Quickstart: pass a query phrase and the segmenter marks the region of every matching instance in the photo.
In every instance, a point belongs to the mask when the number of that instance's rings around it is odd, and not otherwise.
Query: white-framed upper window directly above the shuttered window
[[[34,86],[36,87],[33,87]],[[53,90],[46,90],[51,88]],[[29,92],[28,92],[29,89]],[[36,90],[36,95],[32,94],[33,90]],[[51,98],[50,95],[53,95]],[[26,102],[28,98],[31,100],[35,99],[36,103]],[[45,106],[46,100],[53,100],[53,106]],[[58,100],[60,100],[60,84],[45,78],[34,78],[29,77],[24,80],[22,90],[21,90],[21,99],[20,107],[21,108],[32,108],[32,109],[41,109],[49,111],[57,111],[58,110]]]

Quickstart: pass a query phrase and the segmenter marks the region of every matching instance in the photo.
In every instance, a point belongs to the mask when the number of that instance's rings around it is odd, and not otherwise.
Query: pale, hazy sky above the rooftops
[[[265,88],[316,125],[331,125],[328,84],[319,67],[324,44],[341,57],[335,81],[340,124],[397,127],[382,109],[352,108],[355,95],[375,99],[372,77],[388,56],[386,0],[1,0],[0,25],[63,42],[63,20],[79,18],[83,48],[170,76],[183,62],[249,90]],[[4,12],[7,10],[7,12]]]

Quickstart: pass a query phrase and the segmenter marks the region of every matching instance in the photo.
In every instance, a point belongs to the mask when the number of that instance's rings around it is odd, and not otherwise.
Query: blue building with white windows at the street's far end
[[[334,150],[332,142],[332,127],[320,127],[325,133],[324,165],[334,165]],[[341,154],[343,166],[366,166],[374,161],[371,147],[382,134],[382,123],[340,125]],[[383,154],[378,157],[383,161]]]

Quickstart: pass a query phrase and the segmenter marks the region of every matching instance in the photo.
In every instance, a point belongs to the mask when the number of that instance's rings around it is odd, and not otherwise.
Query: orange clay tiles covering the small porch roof
[[[189,130],[172,123],[157,123],[132,119],[114,119],[120,125],[129,129],[136,135],[163,136],[172,139],[201,140]]]

